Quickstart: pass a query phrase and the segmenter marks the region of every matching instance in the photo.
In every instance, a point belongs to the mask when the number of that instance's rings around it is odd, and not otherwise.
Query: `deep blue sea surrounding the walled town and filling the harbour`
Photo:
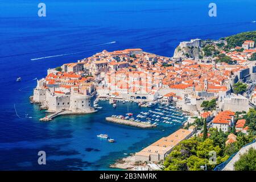
[[[46,4],[46,17],[38,16],[40,2]],[[216,0],[217,17],[208,15],[210,2],[0,0],[0,169],[110,170],[123,153],[137,152],[179,129],[180,124],[145,130],[105,121],[127,113],[128,105],[134,114],[148,110],[130,102],[114,109],[101,101],[97,113],[43,123],[44,111],[28,97],[48,68],[104,49],[142,48],[172,56],[181,41],[256,30],[256,1]],[[31,60],[40,57],[48,58]],[[98,139],[101,133],[117,142]],[[46,151],[46,165],[38,164],[38,151]]]

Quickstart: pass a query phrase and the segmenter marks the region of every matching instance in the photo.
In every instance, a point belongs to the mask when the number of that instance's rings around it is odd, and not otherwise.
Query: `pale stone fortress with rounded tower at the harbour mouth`
[[[73,86],[63,84],[64,82],[52,84],[46,78],[38,80],[32,101],[51,113],[63,110],[68,110],[70,113],[95,111],[93,102],[96,91],[92,82],[83,82],[80,85],[75,85],[74,82]]]

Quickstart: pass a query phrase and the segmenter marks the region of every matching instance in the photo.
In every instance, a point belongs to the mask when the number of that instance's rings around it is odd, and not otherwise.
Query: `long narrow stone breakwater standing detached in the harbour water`
[[[152,125],[152,124],[149,124],[149,123],[140,123],[140,122],[129,121],[129,120],[126,120],[126,119],[119,119],[119,118],[113,118],[113,117],[106,117],[106,121],[112,122],[112,123],[117,123],[117,124],[120,124],[120,125],[141,127],[143,129],[156,127],[156,125]]]

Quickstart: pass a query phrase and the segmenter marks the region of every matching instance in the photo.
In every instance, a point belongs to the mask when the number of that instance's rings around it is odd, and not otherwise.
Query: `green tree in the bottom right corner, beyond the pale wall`
[[[234,164],[236,171],[256,171],[256,150],[250,148],[248,152],[240,156]]]

